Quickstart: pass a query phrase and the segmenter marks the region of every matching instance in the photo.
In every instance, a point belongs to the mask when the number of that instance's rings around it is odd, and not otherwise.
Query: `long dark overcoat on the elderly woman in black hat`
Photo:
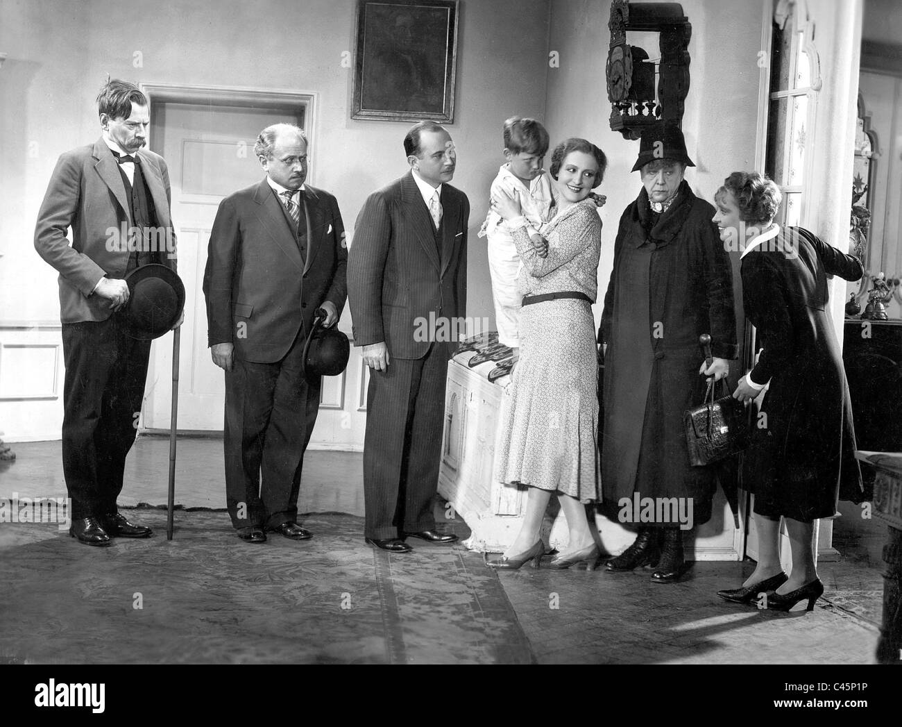
[[[735,359],[732,267],[714,208],[683,182],[663,214],[643,189],[623,212],[604,296],[605,511],[621,498],[692,498],[695,524],[711,517],[714,474],[693,467],[683,414],[704,398],[699,336],[713,356]],[[667,525],[667,523],[648,523]]]

